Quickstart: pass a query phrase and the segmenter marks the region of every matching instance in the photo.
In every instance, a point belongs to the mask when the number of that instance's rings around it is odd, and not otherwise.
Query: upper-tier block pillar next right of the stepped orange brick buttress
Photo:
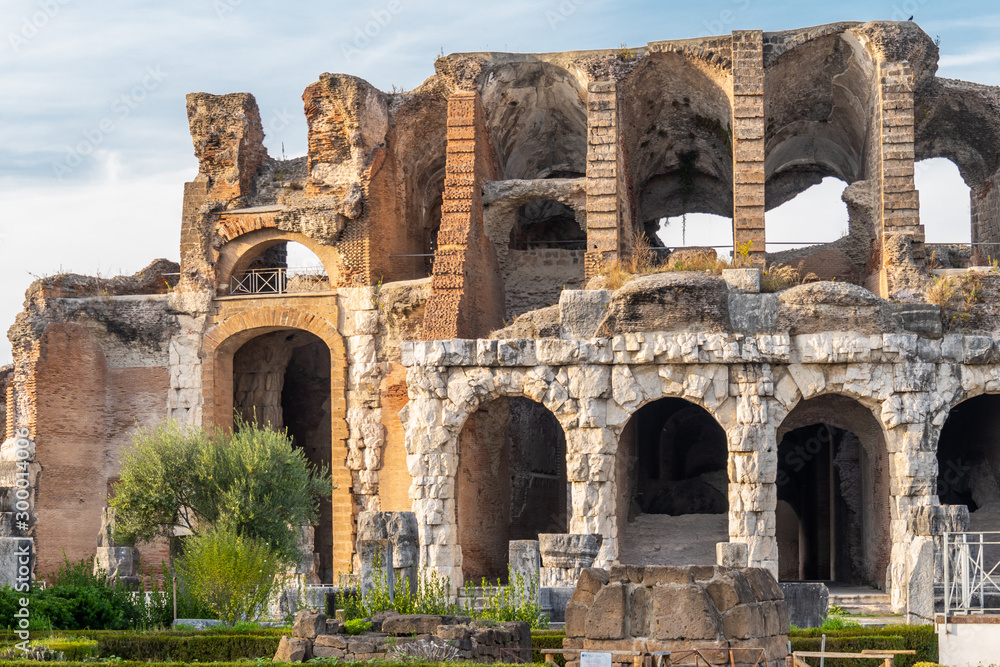
[[[586,276],[619,258],[622,231],[631,223],[623,199],[627,192],[614,81],[587,87],[587,254]]]

